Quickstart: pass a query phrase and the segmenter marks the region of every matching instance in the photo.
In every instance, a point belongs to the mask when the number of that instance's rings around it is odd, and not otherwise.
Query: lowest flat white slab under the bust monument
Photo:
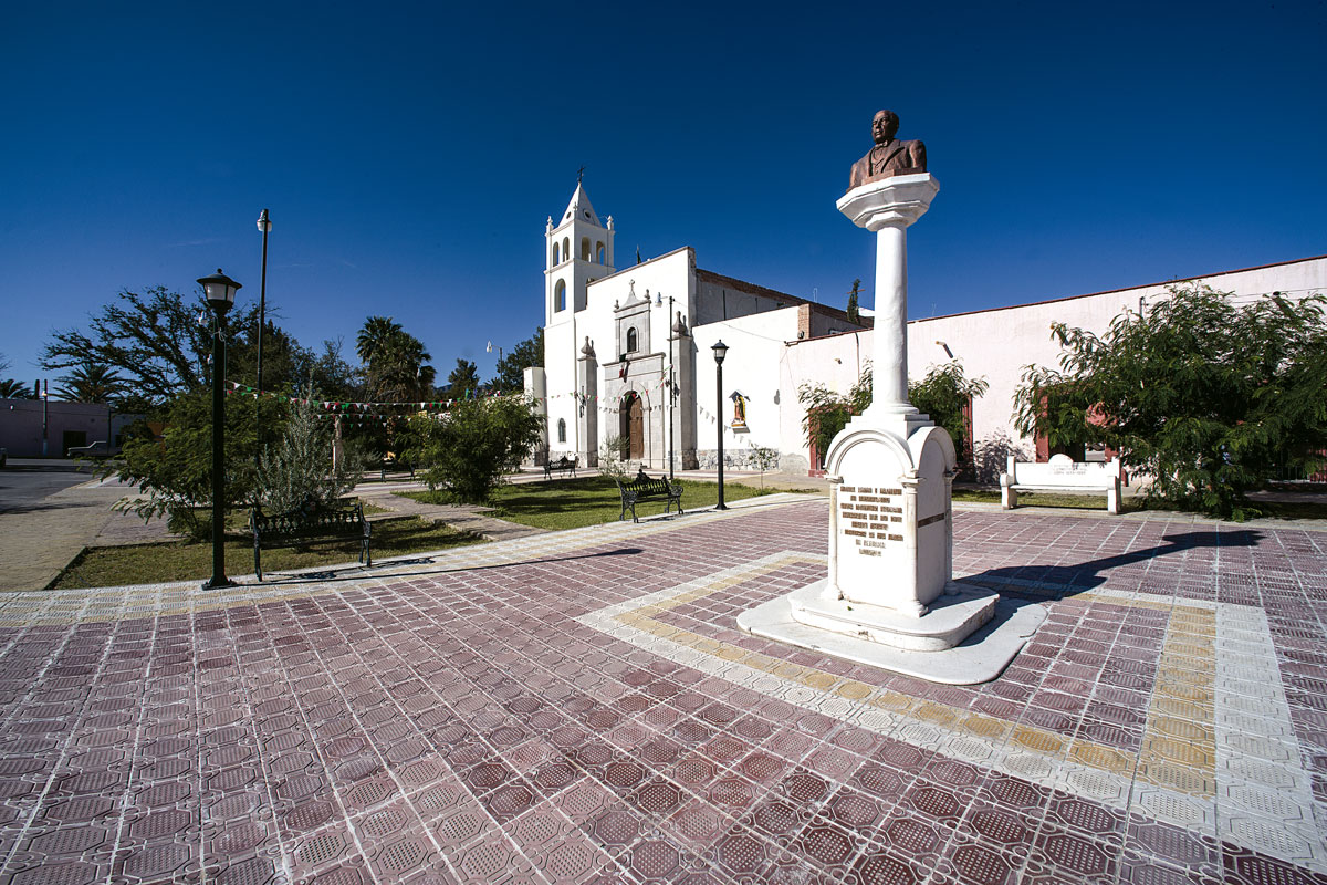
[[[989,621],[971,633],[966,641],[942,650],[918,651],[916,649],[904,649],[876,642],[864,638],[860,633],[811,626],[799,621],[795,617],[794,597],[799,597],[799,604],[804,606],[812,593],[823,596],[827,589],[828,581],[817,581],[800,590],[794,590],[776,600],[758,605],[738,616],[738,626],[752,636],[880,667],[881,670],[926,679],[928,682],[977,685],[990,682],[998,677],[1019,653],[1023,644],[1036,632],[1036,628],[1046,621],[1046,609],[1040,605],[1001,600],[994,593],[989,593],[985,594],[986,600],[993,604],[991,613],[987,616]],[[981,594],[965,593],[966,596]],[[941,597],[937,600],[937,604],[941,604],[945,598],[947,597]],[[962,605],[969,600],[961,597],[955,601]],[[843,601],[839,600],[839,602]],[[824,600],[821,598],[819,604],[823,605]],[[853,602],[847,605],[852,605],[853,613],[860,608]],[[940,605],[938,608],[942,609],[945,606]],[[805,609],[799,614],[804,616],[804,613]],[[893,614],[893,617],[902,618],[904,616]],[[922,616],[922,618],[908,620],[916,624],[926,617],[930,617],[930,614]]]

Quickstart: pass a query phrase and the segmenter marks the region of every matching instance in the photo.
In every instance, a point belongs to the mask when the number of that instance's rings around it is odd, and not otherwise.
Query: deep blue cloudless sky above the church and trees
[[[914,317],[1327,252],[1323,3],[460,7],[11,4],[7,374],[121,288],[222,267],[256,299],[268,207],[301,342],[389,314],[488,377],[583,165],[618,267],[693,245],[844,306],[873,245],[835,199],[880,107],[941,182]]]

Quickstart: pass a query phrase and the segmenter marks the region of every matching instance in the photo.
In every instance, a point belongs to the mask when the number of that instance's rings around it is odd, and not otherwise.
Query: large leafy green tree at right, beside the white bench
[[[1322,463],[1324,304],[1273,293],[1235,306],[1186,284],[1103,336],[1054,324],[1059,368],[1024,369],[1015,425],[1052,446],[1103,442],[1151,475],[1149,496],[1245,519],[1247,492],[1278,467]]]

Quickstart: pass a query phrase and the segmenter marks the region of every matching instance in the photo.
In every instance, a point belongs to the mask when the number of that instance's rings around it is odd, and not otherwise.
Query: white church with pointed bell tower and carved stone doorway
[[[783,439],[775,366],[788,341],[864,326],[697,268],[690,247],[618,271],[614,234],[580,184],[545,226],[544,366],[527,369],[525,389],[544,410],[548,456],[596,464],[616,438],[630,462],[652,470],[709,468],[722,429],[729,466],[767,447],[783,468],[805,470],[794,463],[795,441]],[[721,338],[731,353],[722,398],[711,353]]]

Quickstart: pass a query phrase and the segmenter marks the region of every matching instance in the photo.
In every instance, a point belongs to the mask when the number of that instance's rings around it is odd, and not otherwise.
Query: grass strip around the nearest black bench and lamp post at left
[[[482,541],[483,539],[468,532],[458,532],[418,517],[389,519],[373,524],[374,559],[422,553]],[[314,541],[305,547],[263,551],[263,573],[267,576],[273,572],[313,565],[353,563],[358,556],[360,544],[356,540]],[[227,532],[226,573],[253,573],[253,540],[247,532],[243,535]],[[155,584],[194,579],[202,581],[211,575],[212,545],[210,541],[93,547],[85,549],[69,568],[61,572],[50,589]]]

